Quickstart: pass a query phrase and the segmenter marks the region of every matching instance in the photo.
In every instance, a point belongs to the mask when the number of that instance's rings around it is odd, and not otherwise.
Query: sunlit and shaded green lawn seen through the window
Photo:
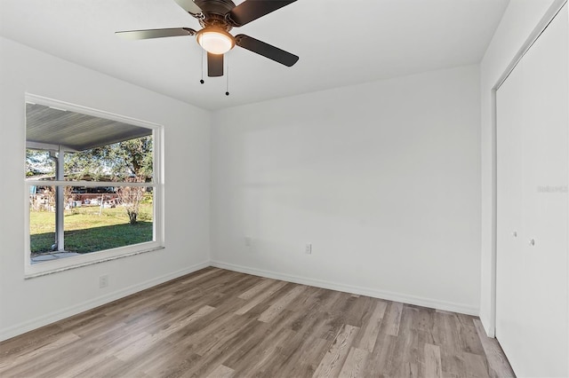
[[[124,247],[152,240],[152,205],[141,204],[139,221],[130,224],[122,207],[102,209],[81,207],[65,211],[65,250],[88,253]],[[55,213],[30,211],[30,248],[32,254],[49,252],[55,239]]]

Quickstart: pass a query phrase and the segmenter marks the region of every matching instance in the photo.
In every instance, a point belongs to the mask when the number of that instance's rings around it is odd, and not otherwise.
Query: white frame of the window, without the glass
[[[27,193],[24,197],[24,214],[25,214],[25,240],[24,240],[24,277],[26,279],[51,274],[53,272],[67,271],[85,265],[98,264],[116,258],[135,256],[141,253],[155,251],[164,248],[164,127],[162,125],[141,121],[123,115],[112,114],[97,109],[92,109],[85,106],[78,106],[55,100],[52,98],[44,98],[33,94],[26,93],[26,103],[39,104],[44,106],[52,106],[62,110],[71,112],[88,114],[95,117],[105,118],[116,122],[129,123],[135,126],[140,126],[152,130],[153,137],[153,177],[151,183],[116,183],[112,182],[113,186],[146,186],[153,188],[153,240],[138,244],[132,244],[120,248],[104,249],[101,251],[90,252],[81,256],[71,256],[59,258],[41,263],[31,264],[31,251],[30,251],[30,235],[29,235],[29,187],[31,185],[64,185],[64,186],[86,186],[98,187],[103,184],[107,186],[107,182],[91,182],[91,181],[41,181],[41,180],[27,180],[23,178],[25,190]],[[24,106],[25,108],[25,106]],[[25,177],[25,155],[26,155],[26,140],[24,138],[24,147],[22,148],[24,159],[22,177]]]

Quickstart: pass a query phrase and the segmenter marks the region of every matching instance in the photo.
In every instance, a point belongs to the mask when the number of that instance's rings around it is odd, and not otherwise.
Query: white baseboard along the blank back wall
[[[282,272],[266,271],[243,265],[223,263],[220,261],[211,261],[210,264],[216,268],[227,269],[228,271],[242,272],[242,273],[252,274],[254,276],[267,277],[269,279],[274,279],[274,280],[284,280],[288,282],[298,283],[301,285],[328,288],[331,290],[337,290],[351,294],[367,295],[367,296],[372,296],[373,298],[380,298],[394,302],[414,304],[417,306],[429,307],[431,309],[453,311],[473,316],[478,316],[479,313],[479,309],[477,307],[471,307],[462,303],[438,301],[432,298],[425,298],[415,295],[405,295],[385,290],[378,290],[370,287],[358,287],[358,286],[345,285],[325,280],[315,280],[315,279],[310,279],[308,277],[300,277]]]

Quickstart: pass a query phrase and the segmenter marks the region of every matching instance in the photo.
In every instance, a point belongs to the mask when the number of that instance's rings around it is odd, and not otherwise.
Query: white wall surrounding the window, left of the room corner
[[[0,53],[0,340],[207,266],[211,114],[1,37]],[[25,92],[164,125],[166,248],[24,280]]]

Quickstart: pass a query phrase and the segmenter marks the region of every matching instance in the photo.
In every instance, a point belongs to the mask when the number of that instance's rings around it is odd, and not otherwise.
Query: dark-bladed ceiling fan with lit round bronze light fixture
[[[245,0],[236,5],[231,0],[174,0],[191,16],[199,20],[201,30],[192,28],[162,28],[117,31],[125,39],[162,38],[196,35],[197,43],[207,51],[207,75],[223,75],[223,54],[235,45],[292,67],[299,57],[249,35],[231,35],[232,28],[242,27],[253,20],[274,12],[296,0]]]

